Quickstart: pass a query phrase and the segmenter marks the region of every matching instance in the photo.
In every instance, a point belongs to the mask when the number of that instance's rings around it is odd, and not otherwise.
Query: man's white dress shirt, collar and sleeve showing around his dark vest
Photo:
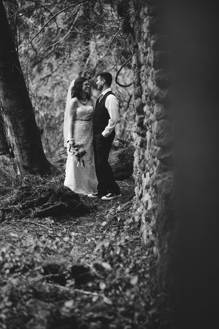
[[[102,92],[102,95],[105,95],[108,91],[112,91],[112,89],[108,88],[104,90]],[[97,99],[97,102],[99,102],[99,98]],[[110,119],[108,125],[103,130],[102,135],[103,137],[108,137],[116,127],[117,122],[119,121],[119,103],[117,98],[112,94],[108,95],[106,97],[105,107],[109,113]]]

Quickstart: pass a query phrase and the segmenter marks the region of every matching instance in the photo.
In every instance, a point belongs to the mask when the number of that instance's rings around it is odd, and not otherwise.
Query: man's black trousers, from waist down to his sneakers
[[[108,193],[120,194],[120,188],[116,183],[113,170],[108,163],[109,152],[115,138],[115,130],[108,136],[103,137],[102,133],[95,134],[93,139],[94,160],[96,175],[98,179],[98,192],[105,195]]]

